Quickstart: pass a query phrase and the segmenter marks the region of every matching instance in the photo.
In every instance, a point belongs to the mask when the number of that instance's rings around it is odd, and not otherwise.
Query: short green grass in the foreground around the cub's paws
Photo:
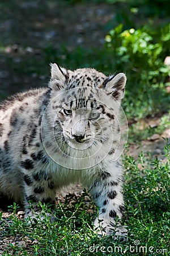
[[[97,236],[92,225],[97,209],[84,192],[81,197],[68,195],[64,204],[57,204],[56,221],[53,223],[46,216],[50,207],[41,205],[40,217],[43,216],[44,220],[37,217],[36,223],[31,225],[16,217],[17,207],[14,204],[11,221],[1,222],[1,240],[3,237],[21,236],[26,247],[10,243],[3,255],[93,255],[94,250],[97,255],[113,255],[114,250],[115,255],[131,255],[134,248],[133,255],[169,255],[169,154],[170,146],[167,144],[167,162],[143,154],[136,161],[128,155],[124,157],[124,224],[128,225],[128,242],[114,241],[114,235]],[[137,246],[137,243],[140,244]],[[142,250],[140,246],[145,246],[145,254],[139,251]],[[164,253],[156,250],[164,250]]]

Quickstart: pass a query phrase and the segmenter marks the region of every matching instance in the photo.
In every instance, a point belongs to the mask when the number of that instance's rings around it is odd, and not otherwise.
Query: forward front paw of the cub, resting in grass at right
[[[94,224],[97,234],[102,236],[112,236],[114,233],[115,240],[118,239],[120,242],[128,241],[128,230],[124,226],[120,224],[115,226],[111,222],[99,220],[98,218],[96,218]]]

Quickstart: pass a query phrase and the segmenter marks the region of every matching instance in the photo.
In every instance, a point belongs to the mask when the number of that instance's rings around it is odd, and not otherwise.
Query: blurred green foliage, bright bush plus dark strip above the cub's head
[[[168,110],[170,102],[166,90],[169,68],[164,59],[169,51],[170,24],[164,27],[142,26],[124,30],[123,24],[105,36],[102,49],[77,47],[61,49],[60,55],[53,46],[45,48],[46,61],[71,68],[94,67],[109,72],[125,72],[128,77],[123,107],[128,118],[153,117]]]

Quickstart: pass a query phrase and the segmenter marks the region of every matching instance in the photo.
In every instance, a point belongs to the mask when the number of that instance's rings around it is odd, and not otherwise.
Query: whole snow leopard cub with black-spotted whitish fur
[[[81,181],[100,207],[95,227],[111,235],[124,212],[118,117],[125,84],[124,73],[106,77],[52,64],[47,88],[3,102],[0,196],[23,203],[27,217],[29,200],[35,208],[39,201],[54,204],[57,189]],[[117,226],[117,236],[126,233]]]

